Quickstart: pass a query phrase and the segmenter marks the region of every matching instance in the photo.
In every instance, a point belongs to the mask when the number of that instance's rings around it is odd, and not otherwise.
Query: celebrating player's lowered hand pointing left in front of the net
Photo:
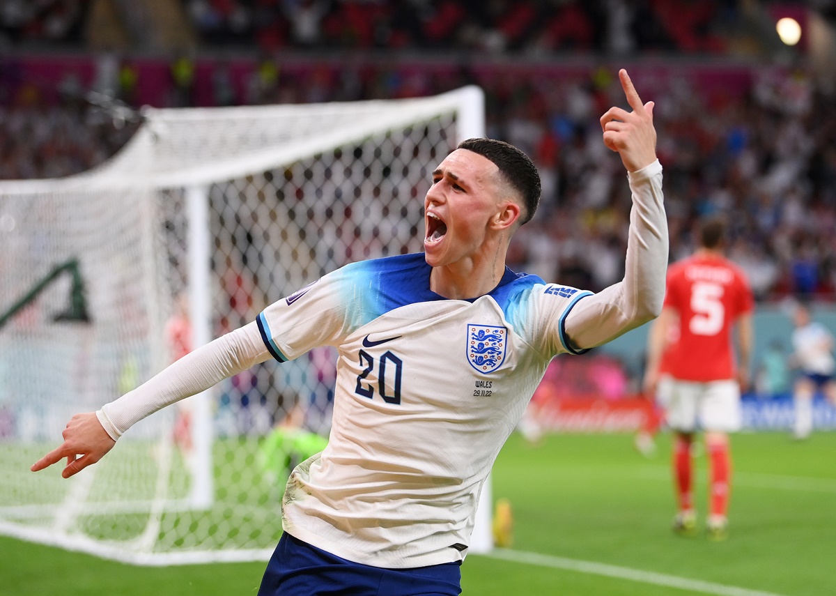
[[[88,465],[101,460],[116,444],[110,434],[104,430],[94,412],[75,414],[69,419],[67,428],[62,433],[64,444],[36,461],[30,470],[37,472],[59,460],[67,458],[67,465],[61,472],[64,478],[78,474]],[[80,457],[79,457],[80,456]]]

